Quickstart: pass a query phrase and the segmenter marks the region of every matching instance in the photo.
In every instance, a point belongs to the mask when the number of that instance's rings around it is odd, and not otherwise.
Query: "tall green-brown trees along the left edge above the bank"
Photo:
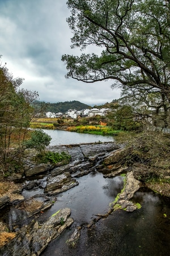
[[[13,160],[19,166],[22,162],[23,141],[34,115],[30,104],[38,97],[37,92],[19,89],[22,82],[0,64],[0,166],[4,172],[11,168]]]

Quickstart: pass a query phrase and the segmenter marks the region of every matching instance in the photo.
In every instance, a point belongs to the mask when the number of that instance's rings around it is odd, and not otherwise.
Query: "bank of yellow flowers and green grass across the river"
[[[117,135],[120,130],[113,130],[109,126],[99,126],[99,125],[86,125],[86,126],[74,126],[68,127],[67,131],[75,131],[76,133],[89,133],[97,135]]]

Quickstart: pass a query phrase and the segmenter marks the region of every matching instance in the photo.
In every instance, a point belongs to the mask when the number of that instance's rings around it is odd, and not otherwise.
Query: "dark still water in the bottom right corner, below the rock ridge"
[[[66,244],[73,232],[67,230],[61,238],[50,243],[42,255],[169,255],[169,199],[165,202],[154,192],[139,191],[135,193],[134,200],[142,204],[141,209],[133,213],[117,210],[91,229],[83,229],[75,248]]]

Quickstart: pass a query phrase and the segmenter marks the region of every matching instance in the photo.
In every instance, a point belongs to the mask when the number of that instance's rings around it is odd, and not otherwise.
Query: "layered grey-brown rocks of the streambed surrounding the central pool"
[[[127,173],[126,182],[120,195],[110,205],[108,213],[99,214],[90,223],[90,228],[101,218],[107,217],[116,209],[133,212],[137,205],[130,199],[140,188],[135,179],[136,168],[125,169],[122,159],[129,154],[128,150],[116,143],[74,144],[53,146],[51,151],[65,151],[71,155],[71,161],[65,166],[40,164],[35,166],[30,159],[25,159],[25,170],[22,176],[14,177],[20,182],[20,188],[0,198],[1,225],[14,233],[14,238],[0,247],[1,255],[40,255],[49,242],[58,237],[63,230],[73,224],[70,218],[71,209],[63,208],[39,221],[39,214],[52,207],[57,195],[77,186],[77,178],[90,172],[102,172],[104,177],[113,177],[122,172]],[[138,166],[139,168],[139,166]],[[6,214],[9,211],[10,214]],[[5,218],[7,216],[7,218]],[[82,227],[75,227],[69,242],[74,244]]]

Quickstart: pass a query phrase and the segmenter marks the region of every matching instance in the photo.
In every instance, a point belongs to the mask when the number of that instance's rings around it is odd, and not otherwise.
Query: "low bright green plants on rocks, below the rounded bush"
[[[66,152],[52,152],[52,151],[47,151],[42,154],[36,155],[35,160],[39,163],[52,163],[56,164],[59,162],[62,162],[63,164],[67,164],[70,161],[71,156],[68,155]]]

